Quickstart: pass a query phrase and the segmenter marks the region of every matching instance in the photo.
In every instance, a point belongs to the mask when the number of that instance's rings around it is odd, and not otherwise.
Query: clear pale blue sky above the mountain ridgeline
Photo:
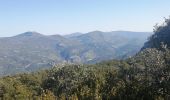
[[[0,37],[90,31],[152,32],[169,18],[170,0],[0,0]]]

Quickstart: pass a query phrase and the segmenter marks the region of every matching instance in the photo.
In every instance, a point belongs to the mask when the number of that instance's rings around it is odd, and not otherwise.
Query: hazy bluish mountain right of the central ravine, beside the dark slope
[[[93,31],[69,39],[78,40],[83,44],[81,55],[84,51],[91,52],[95,58],[90,62],[94,62],[132,56],[140,50],[151,34],[151,32]]]

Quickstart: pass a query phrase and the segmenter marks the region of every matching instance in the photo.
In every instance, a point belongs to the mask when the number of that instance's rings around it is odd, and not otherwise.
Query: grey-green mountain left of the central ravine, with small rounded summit
[[[62,62],[58,46],[69,43],[69,40],[61,36],[44,36],[35,32],[1,38],[0,74],[34,71]]]

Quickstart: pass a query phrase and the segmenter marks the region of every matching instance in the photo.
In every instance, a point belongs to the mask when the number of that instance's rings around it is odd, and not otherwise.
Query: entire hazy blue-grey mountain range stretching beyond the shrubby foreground
[[[25,32],[0,38],[0,75],[31,72],[53,64],[96,63],[136,54],[152,32],[93,31],[70,35]]]

